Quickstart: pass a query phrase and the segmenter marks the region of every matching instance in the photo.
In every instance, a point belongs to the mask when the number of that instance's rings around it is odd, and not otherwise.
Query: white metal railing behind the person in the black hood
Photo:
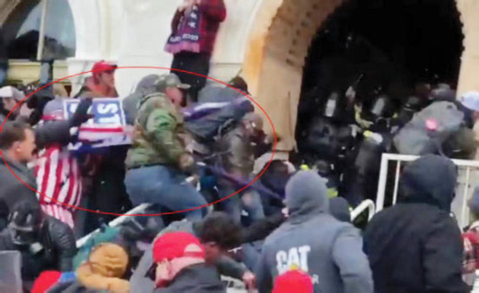
[[[379,181],[378,181],[378,192],[376,197],[376,212],[381,211],[384,208],[384,201],[386,197],[386,185],[388,179],[388,166],[389,161],[396,161],[396,170],[395,170],[395,177],[394,177],[394,189],[393,189],[393,197],[392,197],[392,204],[395,205],[398,199],[398,186],[399,186],[399,176],[401,172],[401,164],[403,162],[411,162],[418,159],[419,156],[417,155],[405,155],[405,154],[395,154],[395,153],[383,153],[381,158],[381,170],[379,172]],[[464,174],[464,190],[462,194],[461,201],[461,208],[460,214],[461,217],[458,219],[461,227],[466,226],[468,223],[468,206],[467,200],[469,198],[469,194],[471,189],[469,185],[471,183],[471,170],[478,168],[479,169],[479,161],[473,160],[461,160],[461,159],[452,159],[452,161],[458,166],[466,169],[466,173]],[[458,180],[462,180],[463,177],[458,176]],[[458,195],[458,193],[457,193]]]

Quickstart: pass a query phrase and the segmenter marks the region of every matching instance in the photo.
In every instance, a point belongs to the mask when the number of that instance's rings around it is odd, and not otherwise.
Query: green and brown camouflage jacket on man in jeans
[[[186,152],[180,138],[183,132],[183,117],[164,94],[145,96],[139,103],[133,147],[128,151],[126,166],[177,166]]]

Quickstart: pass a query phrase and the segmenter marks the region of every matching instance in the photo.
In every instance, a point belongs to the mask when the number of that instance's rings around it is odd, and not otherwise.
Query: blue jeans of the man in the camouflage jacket
[[[156,203],[172,211],[196,208],[205,205],[205,198],[185,181],[186,176],[177,169],[155,165],[128,170],[125,177],[126,190],[133,205]],[[206,208],[185,212],[191,221],[200,221]]]

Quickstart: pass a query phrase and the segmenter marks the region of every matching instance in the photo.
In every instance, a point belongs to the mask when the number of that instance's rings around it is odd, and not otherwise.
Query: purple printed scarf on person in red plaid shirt
[[[178,29],[168,38],[165,51],[173,54],[181,51],[200,52],[201,15],[198,5],[187,8]]]

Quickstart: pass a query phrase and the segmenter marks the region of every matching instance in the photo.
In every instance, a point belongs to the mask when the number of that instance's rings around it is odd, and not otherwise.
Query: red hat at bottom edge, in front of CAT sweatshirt
[[[313,293],[311,277],[300,270],[288,271],[274,279],[272,293]]]

